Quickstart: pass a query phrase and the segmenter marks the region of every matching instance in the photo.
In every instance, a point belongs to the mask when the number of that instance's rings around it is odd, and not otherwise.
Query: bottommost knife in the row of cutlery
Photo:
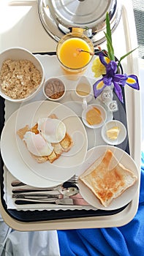
[[[16,199],[15,204],[17,205],[26,205],[26,204],[35,204],[35,203],[48,203],[48,204],[55,204],[55,205],[67,205],[73,206],[74,202],[72,198],[65,198],[65,199],[56,199],[56,200],[36,200],[36,199]]]

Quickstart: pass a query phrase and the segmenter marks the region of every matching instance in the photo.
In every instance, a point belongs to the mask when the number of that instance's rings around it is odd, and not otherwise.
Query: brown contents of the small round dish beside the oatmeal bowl
[[[45,85],[45,94],[50,99],[59,99],[64,94],[64,83],[58,78],[50,78]]]

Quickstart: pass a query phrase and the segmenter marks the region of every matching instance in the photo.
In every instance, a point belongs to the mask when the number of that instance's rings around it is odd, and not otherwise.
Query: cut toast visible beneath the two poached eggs
[[[52,114],[49,116],[50,118],[57,118],[55,114]],[[39,130],[37,129],[38,124],[34,124],[34,127],[29,127],[29,125],[26,125],[26,127],[23,127],[17,131],[18,136],[21,140],[23,140],[23,136],[26,134],[26,132],[34,132],[35,134],[39,134]],[[24,142],[24,141],[23,141]],[[25,143],[25,142],[24,142]],[[25,143],[26,144],[26,143]],[[31,154],[31,156],[37,160],[38,163],[47,162],[53,163],[56,159],[58,159],[63,152],[67,152],[72,148],[73,141],[70,135],[66,132],[66,135],[63,140],[61,140],[59,143],[51,143],[53,146],[53,151],[48,156],[35,156],[34,154]]]

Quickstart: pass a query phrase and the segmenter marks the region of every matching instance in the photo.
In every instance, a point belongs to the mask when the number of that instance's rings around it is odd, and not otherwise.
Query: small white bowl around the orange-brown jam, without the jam
[[[94,108],[94,107],[97,108],[100,111],[101,116],[102,116],[102,121],[99,124],[91,125],[91,124],[88,124],[88,122],[86,121],[86,113],[89,110],[91,110],[92,108]],[[87,108],[83,110],[83,112],[82,112],[82,120],[83,120],[83,123],[88,128],[91,128],[91,129],[100,128],[100,127],[102,127],[105,124],[105,121],[107,120],[107,112],[106,112],[105,108],[103,108],[101,105],[91,104],[91,105],[88,105]]]

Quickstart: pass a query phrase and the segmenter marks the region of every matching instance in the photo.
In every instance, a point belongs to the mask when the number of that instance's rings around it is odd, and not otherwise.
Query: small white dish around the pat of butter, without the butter
[[[118,138],[116,138],[115,140],[112,140],[110,138],[107,138],[107,130],[111,129],[113,127],[118,127],[120,129],[120,132],[118,134]],[[119,145],[121,144],[125,138],[126,138],[126,127],[124,126],[123,123],[121,123],[121,121],[118,120],[112,120],[112,121],[107,121],[107,123],[105,123],[105,125],[102,127],[102,139],[109,145]]]

